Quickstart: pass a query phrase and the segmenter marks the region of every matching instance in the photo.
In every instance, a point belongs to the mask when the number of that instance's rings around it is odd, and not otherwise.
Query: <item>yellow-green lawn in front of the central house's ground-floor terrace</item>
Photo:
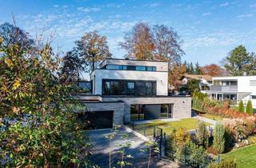
[[[146,135],[153,135],[154,134],[154,126],[163,129],[163,132],[166,134],[170,134],[173,129],[178,129],[180,127],[185,128],[186,130],[193,130],[197,128],[199,121],[194,118],[186,118],[181,119],[180,121],[176,122],[164,122],[161,120],[154,120],[151,123],[146,124],[138,124],[134,125],[134,130],[138,131],[141,134],[144,134],[144,126],[145,126],[145,134]],[[210,126],[209,123],[206,123],[207,126]]]

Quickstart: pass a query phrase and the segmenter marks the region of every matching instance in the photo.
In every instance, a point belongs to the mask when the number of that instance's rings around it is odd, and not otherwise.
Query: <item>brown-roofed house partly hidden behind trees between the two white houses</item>
[[[200,90],[210,90],[210,85],[212,84],[212,77],[206,74],[184,74],[181,78],[181,86],[179,89],[186,89],[186,84],[191,79],[198,80]]]

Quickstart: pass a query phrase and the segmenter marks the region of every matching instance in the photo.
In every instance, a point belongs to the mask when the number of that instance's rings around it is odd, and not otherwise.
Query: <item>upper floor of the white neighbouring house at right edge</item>
[[[210,90],[251,93],[256,90],[256,76],[214,77]]]

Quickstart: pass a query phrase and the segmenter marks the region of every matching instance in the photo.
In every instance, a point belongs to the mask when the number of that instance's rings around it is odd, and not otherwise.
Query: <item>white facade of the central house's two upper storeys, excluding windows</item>
[[[114,66],[150,66],[155,70],[108,70],[107,65]],[[104,68],[105,67],[105,68]],[[104,60],[100,69],[90,74],[92,94],[102,95],[102,80],[133,80],[156,82],[156,96],[168,95],[168,62],[138,61],[129,59],[110,58]]]

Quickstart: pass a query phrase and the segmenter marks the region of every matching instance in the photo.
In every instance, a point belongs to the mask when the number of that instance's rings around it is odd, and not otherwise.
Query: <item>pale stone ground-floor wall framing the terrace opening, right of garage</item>
[[[130,105],[136,104],[174,104],[173,118],[190,118],[191,117],[191,98],[190,97],[155,97],[155,98],[138,98],[138,97],[102,97],[103,101],[124,102],[125,122],[130,122]]]

